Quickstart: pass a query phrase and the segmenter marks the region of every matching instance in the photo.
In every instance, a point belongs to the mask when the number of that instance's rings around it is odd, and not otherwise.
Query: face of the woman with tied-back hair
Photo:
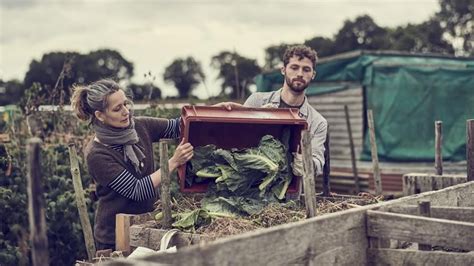
[[[105,112],[96,111],[96,117],[106,125],[126,128],[130,124],[131,102],[123,90],[118,90],[107,97]]]

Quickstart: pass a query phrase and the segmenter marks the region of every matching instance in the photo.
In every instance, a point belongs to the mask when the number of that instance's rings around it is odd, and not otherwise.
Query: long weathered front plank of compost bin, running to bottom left
[[[144,261],[176,265],[288,265],[336,261],[365,265],[365,214],[349,210],[185,247]],[[324,241],[321,241],[324,239]],[[353,243],[358,243],[353,245]],[[231,256],[232,255],[232,256]]]

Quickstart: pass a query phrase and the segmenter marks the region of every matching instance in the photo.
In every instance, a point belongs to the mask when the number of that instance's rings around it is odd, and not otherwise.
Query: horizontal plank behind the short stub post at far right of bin
[[[387,208],[387,211],[393,213],[418,215],[417,206],[399,205]],[[474,207],[431,207],[431,217],[460,222],[474,223]]]

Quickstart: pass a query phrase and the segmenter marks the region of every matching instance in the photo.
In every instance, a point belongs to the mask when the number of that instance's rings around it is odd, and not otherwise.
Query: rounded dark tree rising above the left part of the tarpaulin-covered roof
[[[387,49],[389,46],[387,30],[379,27],[368,15],[359,16],[354,21],[346,20],[334,40],[335,53]]]

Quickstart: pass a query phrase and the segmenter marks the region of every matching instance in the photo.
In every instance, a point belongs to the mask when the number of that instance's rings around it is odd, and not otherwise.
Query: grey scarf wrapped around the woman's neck
[[[130,124],[127,128],[116,128],[96,120],[92,127],[96,137],[105,145],[123,145],[124,160],[130,161],[135,171],[140,173],[140,164],[145,159],[145,154],[138,147],[138,135],[135,130],[135,120],[130,113]]]

